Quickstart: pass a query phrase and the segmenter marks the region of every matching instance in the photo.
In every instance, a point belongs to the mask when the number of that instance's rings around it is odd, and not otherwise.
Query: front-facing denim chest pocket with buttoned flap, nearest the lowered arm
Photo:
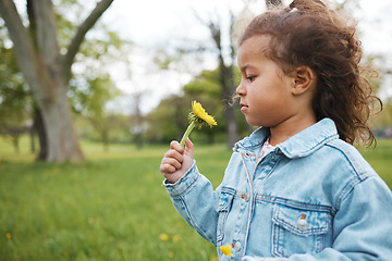
[[[317,253],[326,248],[329,212],[275,206],[272,215],[272,254]]]

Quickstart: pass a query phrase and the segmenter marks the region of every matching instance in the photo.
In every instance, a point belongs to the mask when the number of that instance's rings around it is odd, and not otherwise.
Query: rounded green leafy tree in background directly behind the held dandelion
[[[209,114],[213,115],[218,126],[213,128],[203,127],[192,133],[193,141],[212,144],[216,139],[226,137],[226,122],[224,120],[224,105],[217,102],[221,97],[220,70],[203,71],[183,87],[182,96],[171,96],[163,99],[156,110],[147,117],[146,137],[155,142],[168,142],[175,138],[181,140],[187,125],[191,103],[199,101]],[[240,130],[245,128],[244,117],[237,113]],[[242,119],[242,121],[240,120]]]

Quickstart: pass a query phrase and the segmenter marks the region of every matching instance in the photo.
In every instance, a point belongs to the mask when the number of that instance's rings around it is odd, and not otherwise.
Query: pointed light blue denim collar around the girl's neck
[[[269,136],[269,127],[260,127],[249,137],[236,142],[233,150],[255,149],[254,147],[261,146]],[[334,122],[326,117],[279,144],[275,150],[282,151],[290,159],[302,158],[311,154],[329,140],[336,138],[339,135]]]

